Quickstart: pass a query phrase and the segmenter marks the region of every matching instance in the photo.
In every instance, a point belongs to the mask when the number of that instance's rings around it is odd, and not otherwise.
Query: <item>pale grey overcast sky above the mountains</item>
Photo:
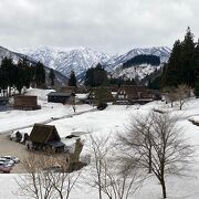
[[[0,45],[172,46],[188,25],[199,38],[198,9],[199,0],[0,0]]]

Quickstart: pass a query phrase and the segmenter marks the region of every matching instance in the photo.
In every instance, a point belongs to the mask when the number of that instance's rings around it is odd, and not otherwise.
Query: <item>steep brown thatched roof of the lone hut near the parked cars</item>
[[[46,144],[49,142],[60,142],[61,138],[54,125],[34,124],[30,134],[30,140]]]

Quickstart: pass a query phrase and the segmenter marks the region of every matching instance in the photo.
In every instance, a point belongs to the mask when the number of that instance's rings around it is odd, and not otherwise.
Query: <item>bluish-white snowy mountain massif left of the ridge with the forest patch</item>
[[[109,54],[96,52],[88,48],[61,49],[42,46],[18,51],[61,72],[65,76],[70,76],[72,70],[76,75],[80,75],[98,62],[106,63],[112,57]]]

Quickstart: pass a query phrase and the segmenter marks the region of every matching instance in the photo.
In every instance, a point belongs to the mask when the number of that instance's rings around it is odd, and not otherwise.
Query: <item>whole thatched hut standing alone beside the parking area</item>
[[[44,151],[64,151],[65,145],[54,125],[34,124],[28,143],[29,149]]]

